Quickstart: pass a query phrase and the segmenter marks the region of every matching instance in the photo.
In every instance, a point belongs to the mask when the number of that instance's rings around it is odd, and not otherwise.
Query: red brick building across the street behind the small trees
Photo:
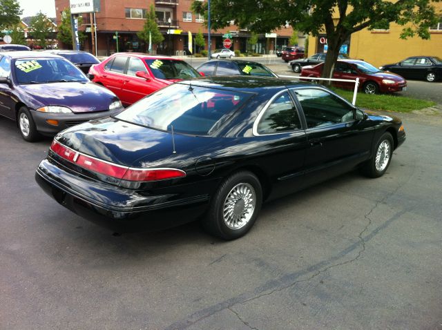
[[[137,32],[142,30],[144,17],[151,4],[155,6],[157,23],[164,35],[164,41],[157,45],[157,54],[177,55],[186,50],[188,43],[188,31],[193,37],[201,30],[206,40],[207,49],[207,28],[204,24],[204,17],[191,12],[193,0],[101,0],[101,11],[95,17],[97,26],[97,50],[98,55],[111,55],[117,50],[115,32],[118,32],[119,51],[146,52],[146,44],[139,40]],[[57,23],[61,23],[61,12],[69,7],[69,0],[55,0],[57,12]],[[91,50],[90,40],[90,14],[83,14],[83,26],[88,39],[84,42],[84,49]],[[170,33],[168,33],[170,32]],[[247,39],[250,32],[240,30],[237,26],[231,25],[222,30],[211,30],[212,49],[222,48],[222,35],[231,32],[233,46],[231,49],[245,52]],[[256,45],[256,52],[269,54],[275,48],[289,43],[293,30],[291,27],[282,27],[268,35],[259,35]],[[304,37],[298,37],[300,45]]]

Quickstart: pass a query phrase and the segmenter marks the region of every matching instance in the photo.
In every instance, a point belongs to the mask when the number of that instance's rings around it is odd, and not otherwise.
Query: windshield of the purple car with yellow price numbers
[[[15,77],[19,84],[89,81],[81,70],[66,59],[16,59]]]

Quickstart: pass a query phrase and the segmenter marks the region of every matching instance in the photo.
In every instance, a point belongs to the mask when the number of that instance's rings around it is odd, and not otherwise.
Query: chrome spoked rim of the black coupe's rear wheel
[[[224,223],[229,229],[240,229],[250,221],[256,206],[253,186],[240,183],[234,186],[224,200]]]

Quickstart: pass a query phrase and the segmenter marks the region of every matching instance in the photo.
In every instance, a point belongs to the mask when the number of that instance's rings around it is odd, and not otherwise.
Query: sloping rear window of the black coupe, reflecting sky
[[[116,116],[148,128],[191,135],[210,135],[238,109],[250,95],[186,84],[158,90]]]

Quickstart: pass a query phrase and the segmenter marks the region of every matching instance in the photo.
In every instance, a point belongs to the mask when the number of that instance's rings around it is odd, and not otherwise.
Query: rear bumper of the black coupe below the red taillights
[[[44,159],[35,173],[41,188],[62,206],[119,233],[155,231],[191,222],[208,206],[208,195],[176,199],[84,179]],[[161,201],[161,202],[159,202]]]

